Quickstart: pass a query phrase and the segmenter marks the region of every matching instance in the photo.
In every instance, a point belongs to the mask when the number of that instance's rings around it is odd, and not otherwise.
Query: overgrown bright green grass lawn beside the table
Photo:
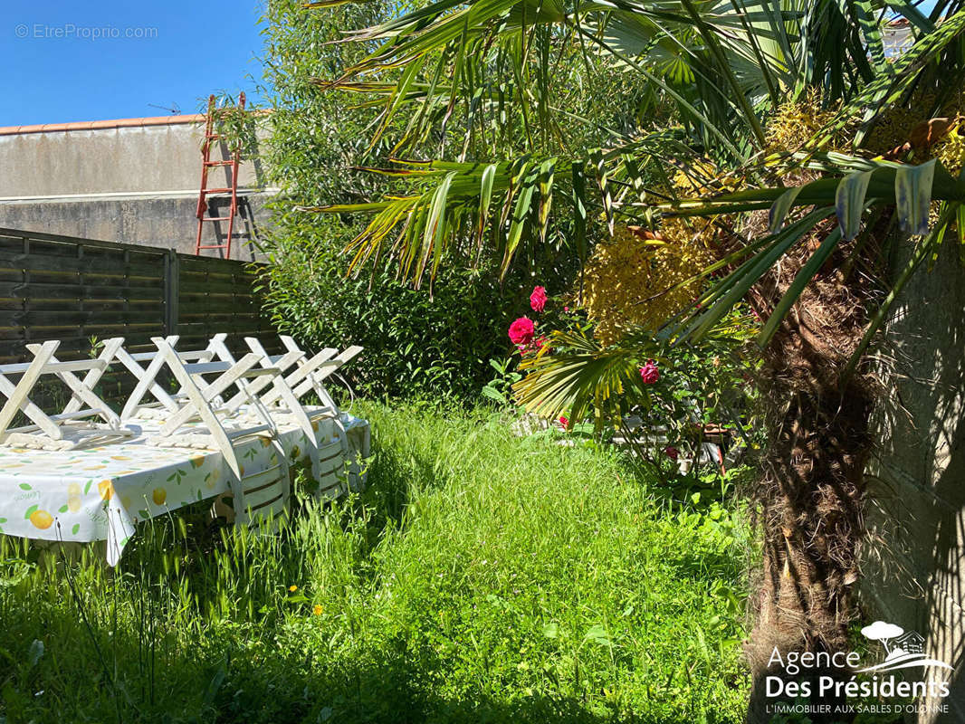
[[[0,722],[742,720],[739,515],[483,413],[361,414],[368,490],[284,540],[176,517],[111,575],[0,539]]]

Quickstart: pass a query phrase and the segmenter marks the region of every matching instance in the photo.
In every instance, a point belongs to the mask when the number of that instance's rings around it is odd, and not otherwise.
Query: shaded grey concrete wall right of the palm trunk
[[[902,293],[880,362],[862,594],[869,613],[924,635],[956,666],[949,713],[965,721],[965,269],[946,243]],[[908,258],[898,250],[894,268]]]

